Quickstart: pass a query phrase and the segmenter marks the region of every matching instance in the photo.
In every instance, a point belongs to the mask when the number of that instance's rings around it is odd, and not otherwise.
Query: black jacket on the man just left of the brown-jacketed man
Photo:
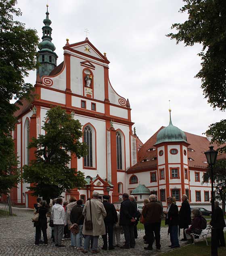
[[[125,201],[121,202],[120,207],[120,226],[128,226],[133,225],[130,221],[132,218],[136,218],[137,208],[135,203],[130,201],[130,199],[126,199]]]

